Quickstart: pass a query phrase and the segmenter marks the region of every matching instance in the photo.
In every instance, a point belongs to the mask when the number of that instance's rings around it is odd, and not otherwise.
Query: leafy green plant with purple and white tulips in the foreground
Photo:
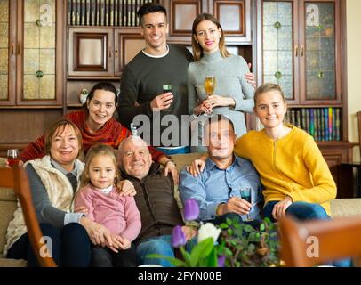
[[[197,201],[188,199],[184,205],[186,224],[199,216]],[[268,218],[258,228],[226,219],[226,223],[216,227],[211,223],[201,223],[197,237],[191,240],[193,247],[187,251],[187,243],[181,226],[172,231],[172,246],[179,248],[181,258],[149,255],[167,259],[177,267],[262,267],[279,266],[279,242],[277,227]]]

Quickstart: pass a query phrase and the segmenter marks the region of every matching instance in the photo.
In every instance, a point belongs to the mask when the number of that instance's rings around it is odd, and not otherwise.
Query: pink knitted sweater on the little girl
[[[88,209],[87,217],[92,221],[131,242],[140,232],[140,212],[134,198],[120,196],[116,187],[105,194],[90,184],[86,185],[76,197],[75,208],[80,206]]]

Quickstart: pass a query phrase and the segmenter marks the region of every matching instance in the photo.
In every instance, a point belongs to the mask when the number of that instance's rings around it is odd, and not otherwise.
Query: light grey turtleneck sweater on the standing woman
[[[232,97],[236,106],[213,108],[214,114],[227,115],[235,125],[237,136],[246,133],[245,115],[243,112],[253,112],[253,86],[245,80],[245,73],[250,72],[242,56],[230,55],[223,58],[220,52],[205,53],[200,61],[189,63],[188,96],[189,115],[198,102],[207,98],[205,93],[205,77],[213,75],[216,79],[215,95]]]

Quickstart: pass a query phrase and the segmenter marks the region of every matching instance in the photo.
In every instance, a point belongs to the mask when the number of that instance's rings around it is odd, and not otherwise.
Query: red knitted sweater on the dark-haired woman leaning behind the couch
[[[109,119],[108,122],[106,122],[97,133],[92,133],[85,124],[86,113],[84,110],[71,112],[66,116],[66,118],[76,124],[76,126],[79,128],[83,139],[84,154],[86,154],[92,145],[97,143],[105,143],[114,149],[117,149],[120,142],[131,135],[131,132],[114,118]],[[28,144],[24,151],[20,153],[20,159],[22,161],[28,161],[31,159],[44,157],[44,144],[44,135],[42,135],[36,140],[36,142],[31,142]],[[148,148],[153,160],[156,162],[165,155],[161,151],[156,151],[156,149],[151,146]]]

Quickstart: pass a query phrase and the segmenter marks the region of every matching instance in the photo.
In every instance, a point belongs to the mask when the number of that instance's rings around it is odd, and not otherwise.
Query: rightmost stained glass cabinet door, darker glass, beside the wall
[[[304,1],[301,5],[304,57],[302,101],[341,102],[340,23],[337,1]]]

